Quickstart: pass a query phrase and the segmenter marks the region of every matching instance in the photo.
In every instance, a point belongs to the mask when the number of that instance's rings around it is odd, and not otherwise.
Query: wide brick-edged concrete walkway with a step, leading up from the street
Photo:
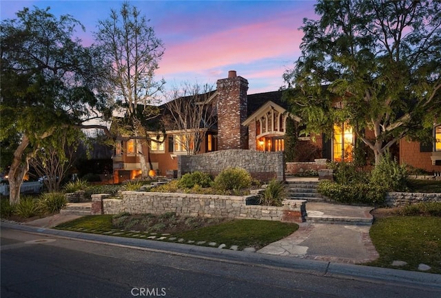
[[[371,207],[307,203],[307,222],[258,253],[362,264],[378,258],[369,237]]]

